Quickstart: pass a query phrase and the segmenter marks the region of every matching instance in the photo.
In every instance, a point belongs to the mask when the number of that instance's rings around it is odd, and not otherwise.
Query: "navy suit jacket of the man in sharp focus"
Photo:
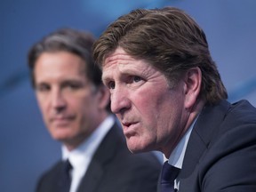
[[[204,107],[180,171],[179,192],[256,191],[256,109],[246,100]]]

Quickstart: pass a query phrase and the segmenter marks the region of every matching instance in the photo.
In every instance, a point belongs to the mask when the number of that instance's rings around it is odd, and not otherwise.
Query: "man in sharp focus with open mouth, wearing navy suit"
[[[93,44],[128,148],[160,150],[161,192],[256,191],[256,109],[230,104],[204,31],[173,7],[138,9]]]

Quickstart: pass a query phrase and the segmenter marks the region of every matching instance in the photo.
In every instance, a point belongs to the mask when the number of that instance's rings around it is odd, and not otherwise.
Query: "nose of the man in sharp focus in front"
[[[116,88],[111,93],[111,111],[114,114],[123,114],[128,108],[131,108],[128,92],[125,89]]]

